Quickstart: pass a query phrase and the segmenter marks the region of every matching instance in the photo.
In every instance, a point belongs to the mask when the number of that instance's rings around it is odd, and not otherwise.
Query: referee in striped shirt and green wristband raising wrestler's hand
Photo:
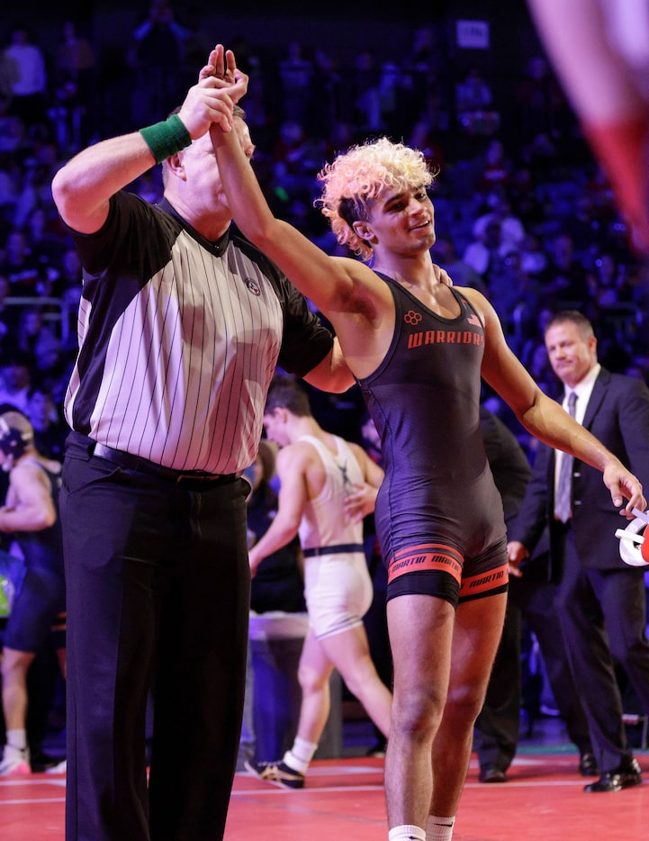
[[[81,151],[52,184],[84,269],[61,492],[68,841],[223,836],[248,637],[241,472],[277,364],[353,382],[302,295],[230,231],[212,123],[254,147],[224,70],[212,50],[178,113]],[[161,203],[124,191],[157,163]]]

